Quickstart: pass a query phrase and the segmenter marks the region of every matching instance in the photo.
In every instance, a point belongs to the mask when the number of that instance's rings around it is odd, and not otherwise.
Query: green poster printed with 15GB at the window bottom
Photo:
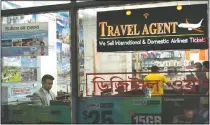
[[[125,97],[122,114],[126,124],[161,124],[161,97]]]

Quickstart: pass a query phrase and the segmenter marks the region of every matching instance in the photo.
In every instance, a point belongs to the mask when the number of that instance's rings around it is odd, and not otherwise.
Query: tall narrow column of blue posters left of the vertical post
[[[56,13],[58,84],[70,83],[70,27],[69,12]]]

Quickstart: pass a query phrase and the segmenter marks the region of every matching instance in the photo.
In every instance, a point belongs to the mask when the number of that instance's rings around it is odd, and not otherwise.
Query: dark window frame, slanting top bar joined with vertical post
[[[174,0],[177,1],[177,0]],[[208,0],[207,0],[208,1]],[[3,1],[2,1],[3,2]],[[138,0],[124,0],[124,1],[86,1],[86,2],[76,2],[72,1],[68,4],[57,4],[57,5],[46,5],[46,6],[37,6],[37,7],[28,7],[28,8],[18,8],[10,10],[1,10],[1,18],[8,16],[19,16],[19,15],[29,15],[29,14],[40,14],[40,13],[50,13],[50,12],[59,12],[59,11],[69,11],[71,17],[71,89],[72,89],[72,107],[71,107],[71,123],[78,123],[79,118],[79,94],[78,87],[79,85],[79,65],[78,65],[78,10],[85,8],[96,8],[96,7],[107,7],[107,6],[121,6],[121,5],[135,5],[135,4],[155,4],[161,2],[172,2],[172,0],[164,1],[138,1]],[[209,6],[209,1],[208,1]],[[209,15],[209,14],[208,14]],[[76,83],[76,84],[75,84]]]

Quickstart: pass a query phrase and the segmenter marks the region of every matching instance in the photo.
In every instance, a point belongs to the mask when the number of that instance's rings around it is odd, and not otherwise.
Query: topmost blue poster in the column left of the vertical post
[[[56,37],[59,42],[70,44],[69,12],[56,14]]]

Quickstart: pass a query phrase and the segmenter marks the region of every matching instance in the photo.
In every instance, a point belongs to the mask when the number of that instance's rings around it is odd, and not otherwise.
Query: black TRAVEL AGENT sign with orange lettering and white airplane
[[[98,12],[97,51],[207,49],[207,22],[207,4]]]

